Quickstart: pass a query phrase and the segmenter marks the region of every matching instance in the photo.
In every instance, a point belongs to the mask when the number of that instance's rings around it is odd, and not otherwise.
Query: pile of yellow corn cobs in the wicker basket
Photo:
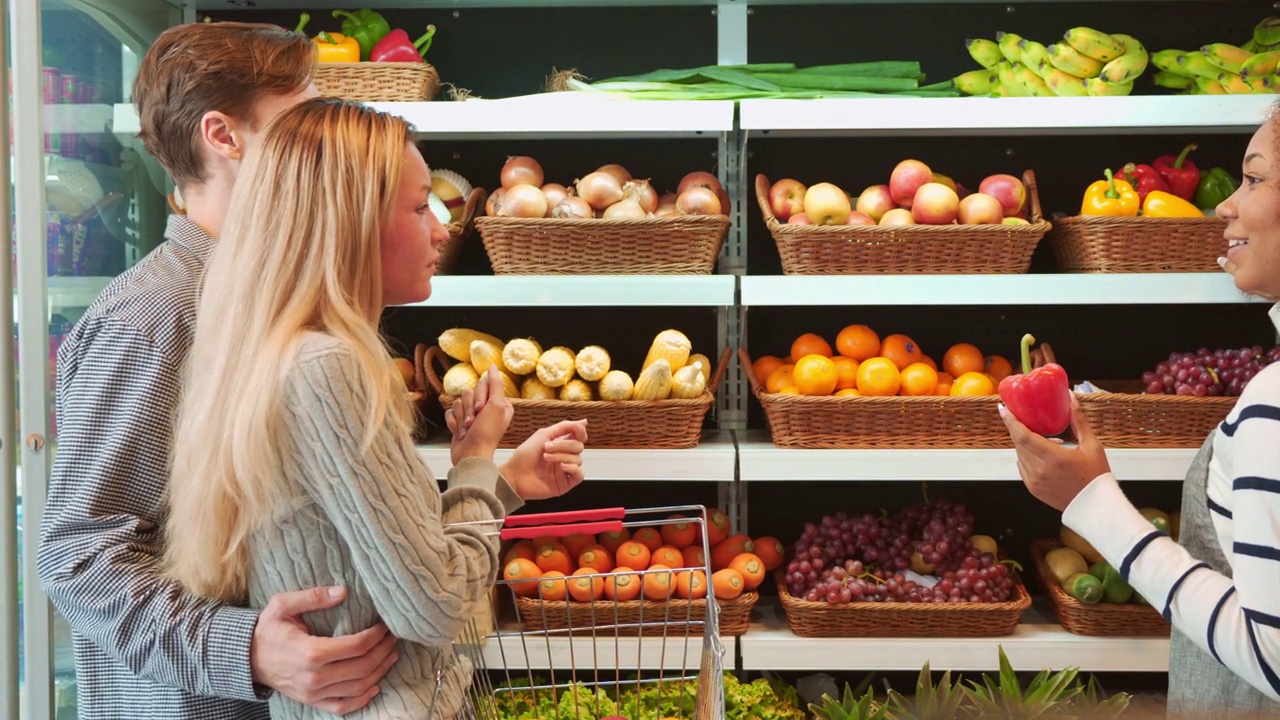
[[[616,369],[609,352],[598,345],[577,351],[564,346],[543,350],[534,338],[503,342],[470,328],[444,331],[436,342],[458,360],[442,378],[444,393],[453,397],[475,388],[490,366],[500,372],[508,397],[571,402],[696,398],[714,372],[710,359],[694,352],[689,337],[676,329],[654,337],[634,380],[626,370]]]

